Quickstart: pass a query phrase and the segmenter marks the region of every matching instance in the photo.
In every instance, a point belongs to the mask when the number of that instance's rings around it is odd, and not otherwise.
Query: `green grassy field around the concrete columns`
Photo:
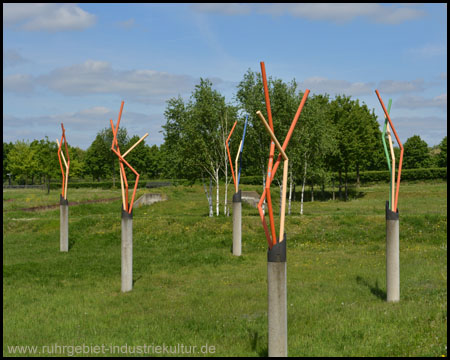
[[[293,204],[290,356],[447,355],[447,183],[400,187],[395,304],[385,301],[388,191],[378,184],[347,202],[306,202],[302,216]],[[232,217],[209,218],[201,186],[151,192],[169,200],[133,211],[134,285],[124,294],[120,190],[69,189],[69,201],[117,200],[70,207],[68,253],[59,251],[59,207],[23,210],[57,205],[58,191],[3,191],[4,356],[267,356],[267,244],[257,210],[243,204],[243,255],[235,257]]]

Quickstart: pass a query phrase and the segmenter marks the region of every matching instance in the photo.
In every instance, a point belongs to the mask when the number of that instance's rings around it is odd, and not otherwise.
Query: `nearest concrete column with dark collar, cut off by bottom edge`
[[[267,251],[269,357],[287,357],[286,234]]]

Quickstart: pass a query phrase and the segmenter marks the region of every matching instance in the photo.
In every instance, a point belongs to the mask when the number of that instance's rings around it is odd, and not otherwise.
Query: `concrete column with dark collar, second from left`
[[[133,288],[133,211],[122,209],[122,292]]]

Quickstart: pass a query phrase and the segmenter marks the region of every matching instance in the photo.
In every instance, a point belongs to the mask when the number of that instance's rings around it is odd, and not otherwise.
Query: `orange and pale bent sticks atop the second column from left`
[[[129,214],[131,214],[131,211],[133,210],[133,203],[134,203],[134,198],[136,196],[136,190],[137,190],[137,185],[139,182],[139,174],[137,173],[136,170],[133,169],[133,167],[124,159],[124,157],[131,151],[133,150],[142,140],[145,139],[145,137],[147,137],[148,133],[146,133],[142,138],[140,138],[124,155],[120,154],[120,149],[119,149],[119,143],[117,141],[117,133],[119,131],[119,123],[120,123],[120,119],[122,117],[122,110],[123,110],[123,104],[124,101],[122,101],[121,105],[120,105],[120,112],[119,112],[119,118],[117,120],[117,124],[116,124],[116,128],[114,129],[114,123],[112,121],[112,119],[110,120],[111,123],[111,128],[113,131],[113,142],[111,144],[111,150],[117,155],[117,157],[119,158],[119,165],[120,165],[120,179],[121,179],[121,186],[122,186],[122,202],[123,202],[123,209],[125,211],[127,211]],[[131,196],[131,201],[130,204],[128,204],[128,181],[127,181],[127,177],[125,174],[125,169],[123,167],[123,164],[125,164],[135,175],[136,175],[136,181],[134,183],[134,189],[133,189],[133,195]],[[122,179],[123,182],[125,183],[125,195],[124,195],[124,189],[123,189],[123,184],[122,184]]]

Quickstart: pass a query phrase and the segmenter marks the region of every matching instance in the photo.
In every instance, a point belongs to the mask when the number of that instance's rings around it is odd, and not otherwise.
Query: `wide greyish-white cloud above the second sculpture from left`
[[[116,70],[104,61],[87,60],[39,76],[37,82],[64,95],[119,94],[143,103],[160,104],[189,92],[195,79],[156,70]]]

